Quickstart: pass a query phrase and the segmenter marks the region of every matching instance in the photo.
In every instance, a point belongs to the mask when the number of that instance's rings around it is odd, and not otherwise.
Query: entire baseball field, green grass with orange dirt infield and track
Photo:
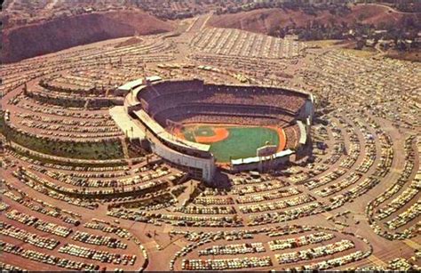
[[[285,147],[285,134],[281,128],[187,124],[175,132],[187,141],[211,145],[211,153],[219,163],[230,159],[256,157],[256,150],[267,144]]]

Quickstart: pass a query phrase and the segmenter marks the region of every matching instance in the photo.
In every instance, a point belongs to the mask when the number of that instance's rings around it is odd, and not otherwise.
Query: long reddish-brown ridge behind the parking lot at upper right
[[[323,25],[338,25],[342,22],[353,24],[380,23],[399,26],[405,20],[412,20],[418,27],[421,26],[420,13],[396,12],[389,7],[382,5],[356,5],[351,7],[345,14],[332,14],[329,11],[316,11],[314,15],[302,10],[284,9],[258,9],[250,12],[239,12],[234,14],[214,15],[208,21],[208,25],[217,28],[239,28],[248,31],[269,34],[275,27],[306,27],[307,24],[317,22]]]

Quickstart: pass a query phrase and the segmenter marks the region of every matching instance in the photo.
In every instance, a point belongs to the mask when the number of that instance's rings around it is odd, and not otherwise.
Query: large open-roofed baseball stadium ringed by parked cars
[[[200,79],[145,82],[125,101],[145,132],[143,143],[204,181],[218,167],[284,164],[306,145],[314,113],[309,93]]]

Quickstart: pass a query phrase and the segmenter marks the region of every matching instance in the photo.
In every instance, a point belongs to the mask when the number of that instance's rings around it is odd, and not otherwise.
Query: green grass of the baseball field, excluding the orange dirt
[[[209,132],[210,126],[199,126],[195,130],[192,129],[192,127],[187,127],[183,131],[188,141],[195,141],[193,131],[196,135],[198,135],[196,132],[203,136],[212,135],[212,132]],[[265,146],[266,141],[269,141],[271,145],[279,145],[278,132],[270,128],[228,126],[226,130],[228,130],[229,136],[224,141],[211,144],[211,153],[221,163],[229,162],[230,159],[256,157],[256,150]]]

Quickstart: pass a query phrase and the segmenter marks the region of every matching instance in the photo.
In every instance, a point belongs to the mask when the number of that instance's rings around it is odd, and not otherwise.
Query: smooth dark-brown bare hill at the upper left
[[[96,12],[4,29],[2,61],[19,61],[101,40],[171,31],[171,22],[146,12]]]

